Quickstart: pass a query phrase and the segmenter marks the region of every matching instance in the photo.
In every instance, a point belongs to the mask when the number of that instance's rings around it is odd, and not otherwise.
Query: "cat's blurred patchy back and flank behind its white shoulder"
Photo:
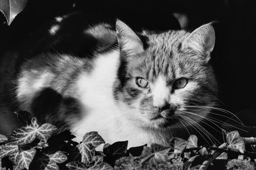
[[[12,129],[17,124],[13,111],[36,110],[39,115],[48,111],[51,115],[60,108],[78,107],[75,83],[79,74],[90,73],[95,60],[111,52],[117,43],[111,25],[96,22],[90,25],[81,22],[81,17],[84,16],[56,17],[51,24],[1,54],[0,131],[3,134],[6,134],[3,129]],[[37,101],[36,97],[39,97]],[[31,108],[33,101],[40,110]],[[40,101],[44,106],[40,106]],[[49,119],[57,121],[59,116],[65,117],[53,114]]]

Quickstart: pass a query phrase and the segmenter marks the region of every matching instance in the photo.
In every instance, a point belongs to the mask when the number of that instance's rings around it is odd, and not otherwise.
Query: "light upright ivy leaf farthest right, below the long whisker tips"
[[[245,150],[244,140],[243,138],[241,138],[238,131],[228,132],[227,143],[228,143],[228,148],[233,150],[239,150],[239,152],[244,153],[244,150]]]

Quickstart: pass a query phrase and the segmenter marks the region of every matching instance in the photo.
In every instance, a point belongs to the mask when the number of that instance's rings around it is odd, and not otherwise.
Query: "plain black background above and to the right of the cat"
[[[179,29],[173,13],[188,19],[186,30],[193,31],[207,22],[217,21],[216,45],[212,52],[212,66],[218,78],[223,108],[238,113],[256,110],[255,96],[255,6],[253,1],[84,1],[84,0],[28,0],[22,13],[8,26],[0,13],[0,51],[15,46],[52,18],[72,11],[102,20],[120,18],[135,29]],[[81,21],[84,22],[84,21]],[[19,44],[19,43],[18,43]],[[243,112],[244,113],[244,112]],[[256,114],[256,113],[255,113]],[[240,117],[243,119],[242,117]],[[256,115],[250,115],[255,118]],[[255,121],[248,119],[249,125]]]

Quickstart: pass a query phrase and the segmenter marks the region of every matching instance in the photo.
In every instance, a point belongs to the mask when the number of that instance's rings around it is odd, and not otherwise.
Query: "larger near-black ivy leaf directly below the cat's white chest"
[[[115,165],[115,160],[120,157],[125,157],[127,153],[128,141],[118,141],[112,145],[103,148],[103,153],[106,155],[104,161],[108,162],[111,166]]]

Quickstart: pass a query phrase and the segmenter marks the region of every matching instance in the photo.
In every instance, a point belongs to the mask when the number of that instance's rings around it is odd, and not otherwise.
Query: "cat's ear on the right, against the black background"
[[[183,46],[190,47],[196,52],[204,55],[206,62],[210,59],[215,44],[215,31],[212,23],[202,25],[191,32],[191,34],[183,42]]]

